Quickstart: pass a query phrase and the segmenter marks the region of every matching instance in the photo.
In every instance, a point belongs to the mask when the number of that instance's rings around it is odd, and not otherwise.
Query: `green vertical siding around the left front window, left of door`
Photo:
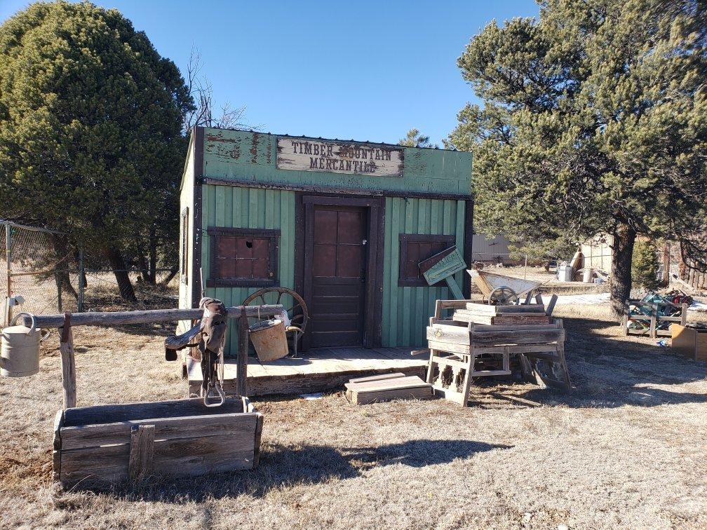
[[[229,228],[273,228],[280,230],[278,249],[278,277],[282,287],[293,288],[295,279],[295,193],[279,189],[255,189],[230,186],[202,187],[201,229],[201,270],[204,283],[211,271],[211,241],[206,235],[210,226]],[[198,274],[198,271],[197,271]],[[257,287],[206,288],[206,295],[223,300],[226,305],[239,305],[248,295],[259,290]],[[274,302],[274,300],[266,300]],[[228,330],[226,355],[238,351],[238,333]]]

